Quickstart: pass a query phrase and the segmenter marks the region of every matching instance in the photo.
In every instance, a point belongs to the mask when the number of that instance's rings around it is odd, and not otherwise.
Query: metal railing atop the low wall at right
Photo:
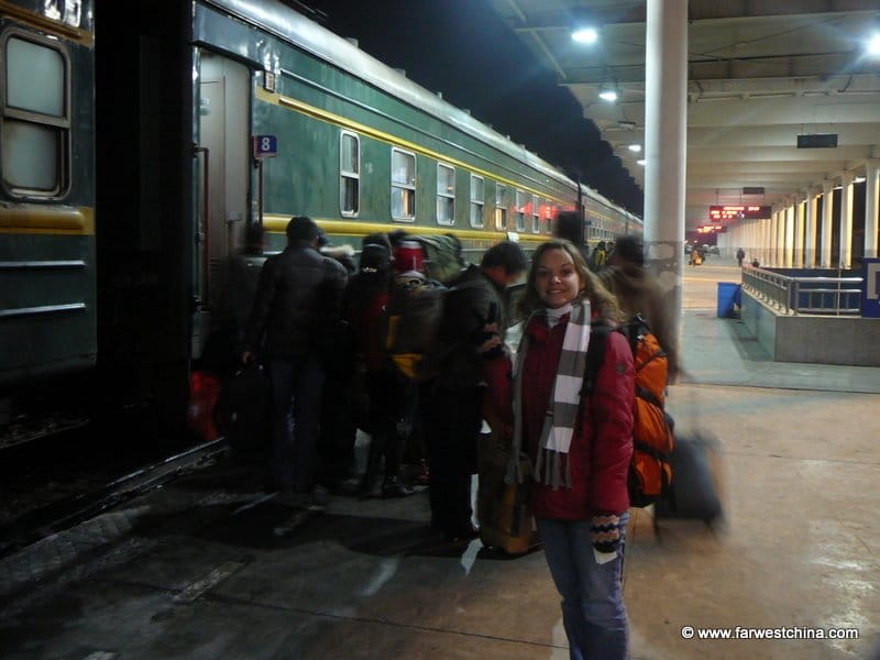
[[[783,314],[858,316],[861,277],[789,277],[745,266],[743,288]]]

